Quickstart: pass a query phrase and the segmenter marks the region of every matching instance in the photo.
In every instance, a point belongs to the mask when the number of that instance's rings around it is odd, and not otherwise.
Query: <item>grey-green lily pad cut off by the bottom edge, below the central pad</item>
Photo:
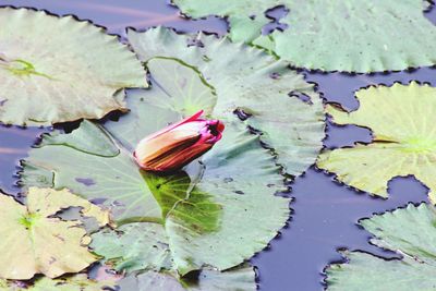
[[[219,272],[203,269],[195,280],[179,281],[170,274],[147,271],[129,276],[120,281],[120,290],[167,290],[167,291],[250,291],[256,290],[255,274],[252,267],[243,266]]]

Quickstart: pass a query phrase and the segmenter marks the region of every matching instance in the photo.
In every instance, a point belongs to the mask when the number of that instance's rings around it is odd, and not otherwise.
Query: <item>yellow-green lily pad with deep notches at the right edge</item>
[[[355,124],[373,131],[371,144],[326,150],[317,161],[320,169],[337,174],[348,185],[387,197],[387,184],[395,177],[413,174],[431,190],[436,203],[436,89],[410,85],[378,86],[356,93],[360,107],[347,112],[329,106],[337,124]]]

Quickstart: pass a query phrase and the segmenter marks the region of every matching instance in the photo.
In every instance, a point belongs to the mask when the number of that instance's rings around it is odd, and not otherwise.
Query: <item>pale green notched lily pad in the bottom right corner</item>
[[[402,255],[383,259],[361,252],[346,252],[347,264],[326,270],[328,290],[434,290],[436,279],[436,213],[433,206],[405,209],[364,219],[361,225],[375,235],[372,243]]]

